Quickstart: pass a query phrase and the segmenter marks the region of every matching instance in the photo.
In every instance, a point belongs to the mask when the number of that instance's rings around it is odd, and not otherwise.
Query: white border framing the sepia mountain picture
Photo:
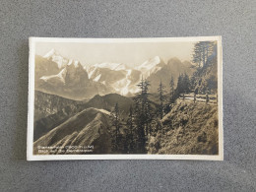
[[[35,42],[186,42],[218,41],[218,113],[219,113],[219,155],[33,155],[33,107],[34,107],[34,56]],[[27,160],[224,160],[223,134],[223,51],[222,36],[194,37],[152,37],[152,38],[59,38],[30,37],[29,101],[28,101]]]

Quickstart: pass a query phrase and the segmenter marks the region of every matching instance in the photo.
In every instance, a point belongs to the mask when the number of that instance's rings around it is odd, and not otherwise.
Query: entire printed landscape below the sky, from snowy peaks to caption
[[[200,46],[208,56],[193,64],[155,56],[84,66],[54,49],[37,55],[33,154],[218,155],[216,44]]]

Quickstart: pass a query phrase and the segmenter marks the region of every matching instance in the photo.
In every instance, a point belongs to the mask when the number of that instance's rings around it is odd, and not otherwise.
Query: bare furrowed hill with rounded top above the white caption
[[[108,115],[96,108],[88,108],[69,118],[33,143],[33,154],[37,146],[88,146],[95,145],[94,153],[110,151]]]

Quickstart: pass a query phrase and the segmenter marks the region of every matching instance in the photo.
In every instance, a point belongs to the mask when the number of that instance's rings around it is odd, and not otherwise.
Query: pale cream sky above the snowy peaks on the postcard
[[[35,54],[45,55],[52,48],[68,59],[79,60],[82,65],[96,63],[123,63],[134,67],[155,56],[167,62],[177,57],[181,61],[191,61],[195,42],[36,42]]]

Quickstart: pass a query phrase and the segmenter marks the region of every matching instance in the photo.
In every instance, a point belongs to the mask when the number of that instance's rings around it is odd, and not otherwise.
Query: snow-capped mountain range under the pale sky
[[[171,76],[176,82],[181,73],[191,75],[194,66],[172,58],[164,63],[159,56],[134,68],[122,63],[98,63],[89,67],[67,59],[51,49],[47,54],[35,56],[35,90],[75,100],[111,93],[134,96],[142,78],[151,83],[151,93],[157,93],[160,80],[168,86]]]

